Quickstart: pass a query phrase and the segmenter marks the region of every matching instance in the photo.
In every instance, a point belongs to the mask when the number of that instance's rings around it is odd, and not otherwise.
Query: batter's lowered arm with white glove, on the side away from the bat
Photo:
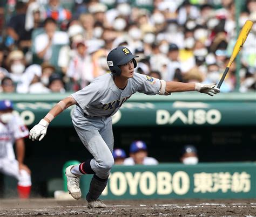
[[[41,121],[36,124],[29,132],[29,138],[32,141],[39,140],[41,141],[46,135],[46,131],[50,122],[58,114],[62,113],[66,108],[69,108],[73,104],[76,104],[76,100],[72,96],[68,96],[65,99],[59,101]]]

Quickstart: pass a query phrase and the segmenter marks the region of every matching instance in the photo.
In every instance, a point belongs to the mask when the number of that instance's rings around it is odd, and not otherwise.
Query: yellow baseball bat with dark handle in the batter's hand
[[[221,77],[221,79],[218,83],[217,88],[220,88],[221,84],[223,83],[223,81],[224,81],[224,79],[227,75],[228,70],[230,69],[230,66],[231,66],[232,62],[237,57],[237,54],[239,53],[239,51],[242,48],[242,45],[244,45],[245,40],[246,40],[249,32],[252,29],[252,24],[253,24],[253,22],[248,19],[248,20],[246,20],[244,26],[242,26],[242,30],[240,31],[237,42],[235,43],[235,46],[233,48],[233,52],[232,52],[232,55],[230,57],[230,61],[228,62],[227,66],[226,66],[226,69],[225,69],[225,71],[224,71],[224,73],[223,73],[223,75],[222,75],[222,77]]]

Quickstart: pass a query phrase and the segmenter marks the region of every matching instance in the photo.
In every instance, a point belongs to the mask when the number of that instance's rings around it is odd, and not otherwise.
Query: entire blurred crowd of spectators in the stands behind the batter
[[[141,4],[139,4],[141,3]],[[106,55],[125,45],[136,72],[167,81],[219,81],[247,19],[254,22],[221,92],[256,80],[256,0],[5,0],[0,3],[0,92],[64,93],[109,73]],[[148,3],[148,5],[146,5]]]

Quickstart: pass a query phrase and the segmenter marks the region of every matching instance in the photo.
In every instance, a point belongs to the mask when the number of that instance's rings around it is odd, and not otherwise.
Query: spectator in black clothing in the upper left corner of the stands
[[[26,4],[18,1],[16,4],[16,15],[12,16],[7,24],[7,38],[8,46],[17,46],[19,49],[28,51],[31,46],[31,31],[25,30]],[[10,43],[10,42],[13,43]]]

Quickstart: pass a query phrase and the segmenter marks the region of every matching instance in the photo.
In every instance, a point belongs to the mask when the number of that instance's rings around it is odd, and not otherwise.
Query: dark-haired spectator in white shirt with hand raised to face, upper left
[[[49,61],[52,57],[52,46],[68,44],[69,37],[66,32],[57,31],[57,24],[53,18],[44,20],[44,30],[44,33],[36,36],[33,43],[38,58]]]

